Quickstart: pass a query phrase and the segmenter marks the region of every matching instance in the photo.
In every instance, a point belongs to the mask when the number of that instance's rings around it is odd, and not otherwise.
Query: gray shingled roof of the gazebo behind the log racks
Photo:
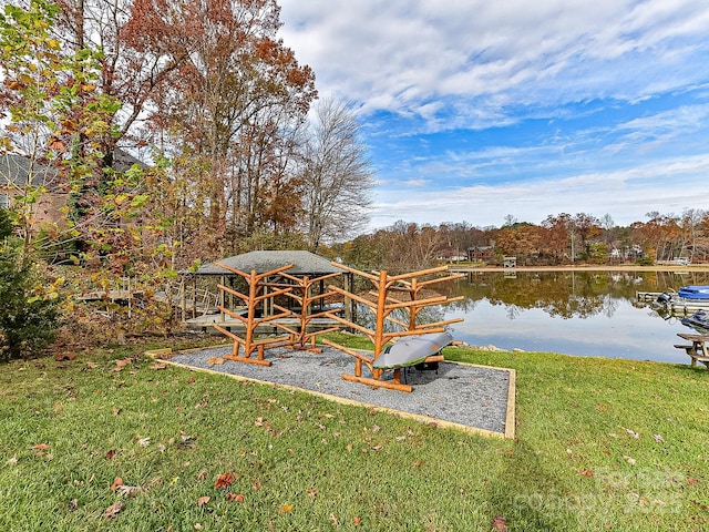
[[[193,275],[225,275],[228,270],[217,263],[225,264],[239,272],[265,274],[281,266],[292,264],[292,268],[286,270],[290,275],[327,275],[343,273],[342,269],[332,266],[330,260],[310,252],[249,252],[233,257],[223,258],[215,263],[201,266]],[[186,273],[186,272],[184,272]]]

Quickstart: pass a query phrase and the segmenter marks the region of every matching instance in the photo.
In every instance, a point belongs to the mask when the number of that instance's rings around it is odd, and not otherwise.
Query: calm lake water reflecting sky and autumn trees
[[[448,284],[464,299],[444,308],[462,317],[453,336],[470,345],[688,364],[672,347],[692,332],[636,300],[636,291],[709,285],[709,274],[670,272],[484,273]]]

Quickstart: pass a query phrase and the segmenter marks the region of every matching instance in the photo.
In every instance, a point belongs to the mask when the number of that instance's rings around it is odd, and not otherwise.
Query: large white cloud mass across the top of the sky
[[[441,108],[432,98],[482,98],[479,104],[497,108],[552,105],[599,92],[637,99],[658,83],[697,81],[703,73],[668,68],[681,59],[677,50],[690,54],[703,47],[706,52],[709,27],[709,4],[695,0],[444,6],[438,0],[281,0],[281,6],[286,43],[315,68],[328,92],[361,101],[368,110],[419,112],[431,121],[431,110]],[[676,41],[685,38],[691,41],[678,48]],[[548,90],[557,84],[563,90]],[[456,111],[466,108],[475,106]]]

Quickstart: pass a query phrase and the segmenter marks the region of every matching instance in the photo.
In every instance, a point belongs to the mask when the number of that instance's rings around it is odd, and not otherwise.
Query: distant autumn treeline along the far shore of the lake
[[[648,213],[647,222],[616,226],[609,215],[549,215],[541,224],[506,216],[501,227],[467,222],[438,226],[397,222],[390,227],[335,246],[348,264],[363,268],[405,270],[441,260],[518,266],[565,264],[698,263],[709,252],[709,213]]]

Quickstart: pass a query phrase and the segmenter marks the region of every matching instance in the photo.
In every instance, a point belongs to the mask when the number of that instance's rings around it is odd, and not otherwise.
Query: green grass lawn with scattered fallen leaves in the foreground
[[[0,366],[0,530],[709,528],[703,367],[446,348],[516,369],[503,440],[144,349]]]

